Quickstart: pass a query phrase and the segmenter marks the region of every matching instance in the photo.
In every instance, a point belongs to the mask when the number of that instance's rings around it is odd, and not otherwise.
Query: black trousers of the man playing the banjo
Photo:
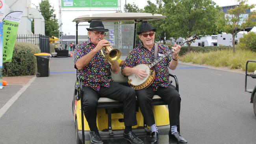
[[[160,96],[163,101],[168,103],[170,126],[180,125],[181,98],[180,94],[173,87],[173,85],[169,85],[167,88],[159,87],[156,91],[153,91],[152,87],[135,91],[139,100],[139,107],[141,109],[141,113],[148,126],[152,126],[156,123],[153,113],[153,107],[151,105],[154,95]]]

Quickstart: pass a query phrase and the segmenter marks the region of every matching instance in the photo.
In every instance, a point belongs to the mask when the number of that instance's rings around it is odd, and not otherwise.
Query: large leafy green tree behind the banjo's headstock
[[[211,0],[163,0],[168,31],[175,39],[217,33],[221,9]],[[188,43],[188,52],[190,44]]]

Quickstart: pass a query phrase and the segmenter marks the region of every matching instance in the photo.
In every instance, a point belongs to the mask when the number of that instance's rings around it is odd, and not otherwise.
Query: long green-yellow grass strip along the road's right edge
[[[249,50],[217,50],[208,53],[191,52],[183,55],[181,61],[196,64],[206,64],[215,67],[228,67],[230,69],[241,69],[245,71],[248,60],[256,61],[256,52]],[[256,70],[256,63],[249,63],[248,72]]]

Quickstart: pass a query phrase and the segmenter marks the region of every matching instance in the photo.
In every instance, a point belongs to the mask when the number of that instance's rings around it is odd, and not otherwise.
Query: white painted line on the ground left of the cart
[[[0,109],[0,118],[6,113],[6,111],[13,105],[13,103],[20,97],[20,95],[31,85],[35,80],[35,76],[28,81],[1,109]]]

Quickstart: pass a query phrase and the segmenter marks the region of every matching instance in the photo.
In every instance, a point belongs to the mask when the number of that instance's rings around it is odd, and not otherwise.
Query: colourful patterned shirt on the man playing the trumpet
[[[78,59],[91,52],[93,48],[95,45],[90,40],[77,44],[74,52],[74,64]],[[110,87],[110,81],[113,81],[110,64],[100,51],[96,53],[87,66],[82,70],[77,70],[77,74],[82,79],[83,86],[91,87],[96,91],[100,90],[100,86]]]

